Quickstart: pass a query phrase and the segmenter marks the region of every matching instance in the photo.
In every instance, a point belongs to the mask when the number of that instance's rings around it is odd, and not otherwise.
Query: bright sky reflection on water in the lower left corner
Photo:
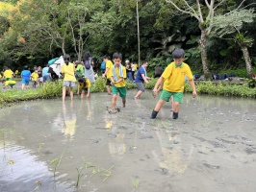
[[[38,191],[73,191],[70,183],[56,184],[47,164],[31,154],[30,150],[12,141],[0,144],[1,192],[33,191],[37,187]]]

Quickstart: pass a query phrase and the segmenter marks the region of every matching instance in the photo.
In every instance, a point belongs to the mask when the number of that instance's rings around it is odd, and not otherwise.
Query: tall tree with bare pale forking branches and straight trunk
[[[239,10],[243,2],[238,6],[236,10]],[[201,31],[201,36],[199,39],[200,51],[201,51],[201,60],[204,75],[207,79],[210,78],[210,70],[208,67],[208,56],[207,56],[207,42],[208,37],[212,32],[213,28],[213,19],[216,16],[215,13],[220,9],[220,6],[223,5],[227,0],[205,0],[204,4],[200,0],[196,0],[195,4],[189,0],[166,0],[167,3],[170,3],[176,10],[179,12],[190,14],[192,17],[196,18],[199,24],[199,29]]]

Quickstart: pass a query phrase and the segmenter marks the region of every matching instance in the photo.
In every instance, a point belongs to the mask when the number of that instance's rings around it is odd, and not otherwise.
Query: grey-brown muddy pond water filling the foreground
[[[106,93],[1,108],[0,191],[255,191],[255,100],[185,95],[151,120],[134,94],[117,114]]]

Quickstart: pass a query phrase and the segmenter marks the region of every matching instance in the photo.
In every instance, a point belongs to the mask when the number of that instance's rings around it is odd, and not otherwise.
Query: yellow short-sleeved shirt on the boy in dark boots
[[[192,80],[192,71],[188,64],[183,62],[181,66],[176,66],[175,62],[171,62],[162,74],[165,79],[164,89],[170,92],[183,92],[185,75]]]

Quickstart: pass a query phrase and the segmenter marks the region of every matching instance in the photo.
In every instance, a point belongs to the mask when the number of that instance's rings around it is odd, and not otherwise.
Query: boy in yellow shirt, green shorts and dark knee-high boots
[[[183,49],[175,49],[173,51],[173,62],[168,64],[162,76],[158,79],[153,89],[153,95],[156,96],[159,85],[164,82],[163,91],[156,107],[153,109],[151,119],[155,119],[159,110],[164,106],[169,98],[173,96],[173,114],[172,118],[177,119],[179,114],[180,104],[183,101],[183,91],[185,76],[187,75],[190,84],[192,85],[192,97],[196,97],[195,85],[192,79],[192,71],[188,64],[184,63],[185,52]]]

